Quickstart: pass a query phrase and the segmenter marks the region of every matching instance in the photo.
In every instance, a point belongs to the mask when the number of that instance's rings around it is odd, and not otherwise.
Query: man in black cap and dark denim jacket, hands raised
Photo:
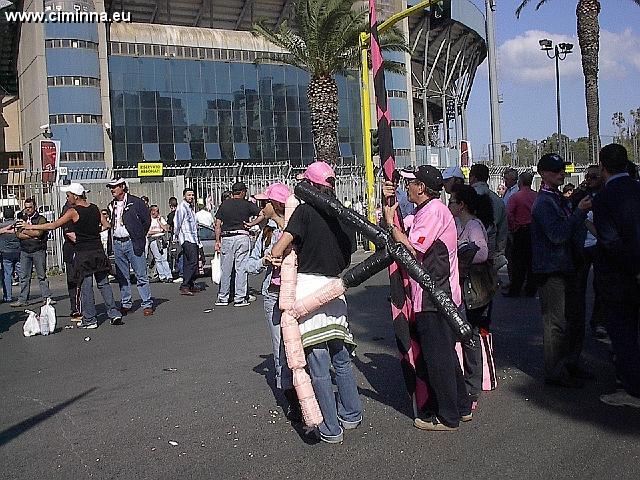
[[[538,162],[542,185],[531,211],[533,273],[538,275],[544,339],[544,376],[549,384],[580,388],[591,375],[580,363],[584,343],[584,317],[571,305],[577,294],[574,253],[581,248],[580,229],[591,209],[591,197],[571,211],[562,195],[565,162],[548,153]]]

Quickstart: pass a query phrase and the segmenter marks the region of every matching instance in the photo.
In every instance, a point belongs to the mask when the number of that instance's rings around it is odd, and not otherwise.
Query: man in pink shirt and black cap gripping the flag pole
[[[447,206],[440,200],[442,174],[430,165],[421,165],[410,172],[402,170],[409,201],[416,204],[413,222],[404,234],[393,224],[398,208],[385,206],[384,216],[394,240],[404,244],[431,275],[433,281],[462,304],[458,275],[458,233],[456,222]],[[385,197],[395,197],[393,182],[383,187]],[[414,426],[428,431],[457,430],[460,421],[472,419],[471,399],[455,351],[456,340],[443,315],[428,293],[413,279],[409,280],[416,333],[421,358],[417,368],[426,371],[429,398],[419,405]]]

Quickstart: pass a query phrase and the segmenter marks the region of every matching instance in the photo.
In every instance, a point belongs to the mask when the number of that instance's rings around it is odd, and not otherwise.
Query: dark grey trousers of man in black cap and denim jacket
[[[540,306],[544,338],[544,375],[556,379],[568,375],[567,366],[579,364],[584,344],[584,317],[580,318],[571,301],[577,282],[574,276],[550,275],[540,286]]]

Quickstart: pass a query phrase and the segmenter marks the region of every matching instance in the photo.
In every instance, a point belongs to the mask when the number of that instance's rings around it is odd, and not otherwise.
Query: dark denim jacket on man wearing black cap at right
[[[576,208],[571,213],[559,192],[541,188],[531,215],[533,273],[573,273],[587,212]]]

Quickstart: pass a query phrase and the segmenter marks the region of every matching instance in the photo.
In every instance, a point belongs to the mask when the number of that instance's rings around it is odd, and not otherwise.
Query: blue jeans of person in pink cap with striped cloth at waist
[[[362,419],[362,403],[351,370],[349,352],[342,340],[329,340],[313,345],[306,348],[305,352],[313,390],[324,418],[318,430],[323,435],[338,436],[342,433],[338,416],[346,422],[358,422]],[[338,386],[337,408],[329,371],[331,364],[336,372]]]

